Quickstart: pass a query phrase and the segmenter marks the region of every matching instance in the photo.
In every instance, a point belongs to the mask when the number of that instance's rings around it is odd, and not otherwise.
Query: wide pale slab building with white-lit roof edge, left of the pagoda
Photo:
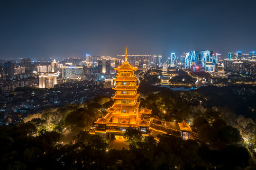
[[[79,78],[82,77],[83,68],[81,66],[63,66],[62,67],[62,78]]]

